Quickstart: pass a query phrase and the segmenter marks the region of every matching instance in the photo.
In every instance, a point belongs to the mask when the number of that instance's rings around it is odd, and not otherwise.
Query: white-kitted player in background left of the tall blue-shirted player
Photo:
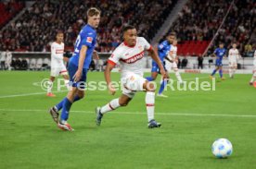
[[[56,42],[53,42],[51,45],[51,76],[49,78],[49,87],[47,89],[47,96],[55,97],[56,95],[52,93],[53,82],[58,75],[62,75],[64,78],[65,84],[69,84],[69,75],[67,68],[63,63],[63,54],[64,54],[64,35],[63,32],[58,31],[56,35]]]

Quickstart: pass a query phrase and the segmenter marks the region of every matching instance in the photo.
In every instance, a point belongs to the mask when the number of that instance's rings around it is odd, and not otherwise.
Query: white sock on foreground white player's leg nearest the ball
[[[155,113],[155,92],[147,91],[146,92],[146,106],[147,106],[147,119],[148,122],[154,119]]]

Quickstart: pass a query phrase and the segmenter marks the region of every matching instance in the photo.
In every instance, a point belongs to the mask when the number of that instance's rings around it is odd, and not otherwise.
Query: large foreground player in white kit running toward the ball
[[[96,125],[100,126],[103,115],[109,111],[115,110],[120,106],[126,106],[134,97],[136,91],[146,91],[146,106],[148,128],[160,127],[154,119],[155,109],[155,87],[153,83],[143,78],[143,57],[145,50],[160,66],[160,73],[163,78],[167,74],[160,62],[160,58],[152,46],[143,37],[137,37],[134,26],[125,26],[122,30],[124,42],[122,42],[111,54],[108,65],[105,70],[105,78],[109,86],[110,94],[114,95],[116,90],[111,85],[110,72],[112,68],[120,63],[122,96],[114,99],[102,107],[96,108]]]

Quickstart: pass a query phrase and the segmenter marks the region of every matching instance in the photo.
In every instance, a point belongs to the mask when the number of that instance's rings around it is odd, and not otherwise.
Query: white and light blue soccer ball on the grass
[[[211,151],[219,159],[227,158],[232,154],[233,146],[228,139],[216,139],[211,146]]]

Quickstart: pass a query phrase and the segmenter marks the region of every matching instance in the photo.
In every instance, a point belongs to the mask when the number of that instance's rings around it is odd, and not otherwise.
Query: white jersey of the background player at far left
[[[53,42],[51,45],[51,66],[58,67],[63,64],[64,43]]]

